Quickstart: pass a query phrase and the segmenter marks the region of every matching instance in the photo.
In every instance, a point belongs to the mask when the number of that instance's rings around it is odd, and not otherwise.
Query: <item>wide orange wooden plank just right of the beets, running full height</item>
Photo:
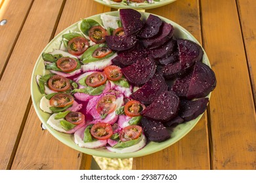
[[[256,169],[255,107],[236,1],[201,2],[203,44],[217,76],[209,106],[213,169]]]

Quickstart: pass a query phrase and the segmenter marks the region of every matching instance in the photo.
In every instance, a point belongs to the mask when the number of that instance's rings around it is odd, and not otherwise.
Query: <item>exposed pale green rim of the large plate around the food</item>
[[[110,14],[112,16],[119,16],[119,12],[107,12],[106,14]],[[141,12],[142,18],[147,18],[150,14],[146,12]],[[176,24],[175,22],[172,22],[171,20],[168,20],[166,18],[163,18],[159,16],[161,20],[172,24],[175,28],[174,35],[175,37],[183,38],[183,39],[189,39],[191,41],[197,42],[200,44],[186,29],[181,27],[180,25]],[[93,20],[96,20],[98,22],[101,22],[100,20],[100,14],[97,14],[95,16],[89,17]],[[78,29],[79,22],[71,25],[70,27],[64,29],[61,33],[59,33],[54,39],[47,44],[45,49],[43,49],[43,52],[51,52],[53,49],[58,49],[60,46],[60,41],[62,40],[62,34],[66,33],[69,30],[72,31],[79,31]],[[42,52],[42,53],[43,53]],[[204,50],[203,50],[204,52]],[[207,55],[203,54],[203,63],[206,63],[210,66],[209,59],[207,58]],[[106,150],[106,148],[97,148],[97,149],[88,149],[88,148],[80,148],[75,144],[74,142],[74,135],[69,135],[66,133],[60,133],[58,131],[55,131],[52,127],[50,127],[46,122],[50,116],[50,114],[47,114],[46,112],[43,112],[40,107],[40,99],[43,97],[43,95],[39,92],[39,88],[37,86],[35,76],[36,75],[45,75],[45,67],[43,64],[43,59],[41,57],[41,54],[39,58],[37,59],[37,62],[35,63],[35,67],[33,69],[32,73],[32,81],[31,81],[31,93],[32,93],[32,101],[33,101],[33,107],[35,108],[35,111],[37,113],[37,116],[41,120],[41,122],[47,127],[47,130],[50,131],[50,133],[56,137],[59,141],[63,142],[67,146],[70,146],[71,148],[74,148],[75,150],[79,152],[83,152],[85,154],[91,154],[93,156],[100,156],[100,157],[106,157],[106,158],[133,158],[133,157],[139,157],[139,156],[145,156],[148,154],[152,154],[154,152],[158,152],[160,150],[163,150],[164,148],[167,148],[168,146],[171,146],[175,142],[179,141],[182,137],[184,137],[200,120],[202,115],[198,116],[195,120],[192,120],[190,122],[186,122],[185,124],[180,124],[177,127],[175,127],[173,133],[171,133],[171,139],[164,141],[164,142],[149,142],[144,148],[137,152],[132,153],[126,153],[126,154],[118,154],[115,152],[109,152]],[[210,94],[207,96],[210,97]],[[40,124],[38,124],[40,125]]]

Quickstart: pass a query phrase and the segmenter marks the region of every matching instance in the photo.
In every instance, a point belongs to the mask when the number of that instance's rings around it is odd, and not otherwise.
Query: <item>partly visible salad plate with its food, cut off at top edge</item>
[[[96,2],[112,8],[133,8],[133,9],[151,9],[158,8],[176,0],[95,0]]]

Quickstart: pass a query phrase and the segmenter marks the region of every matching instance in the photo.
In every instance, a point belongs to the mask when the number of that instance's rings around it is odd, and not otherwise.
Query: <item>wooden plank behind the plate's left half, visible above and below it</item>
[[[74,11],[75,9],[75,11]],[[81,18],[106,12],[108,8],[89,1],[65,3],[56,34]],[[77,152],[42,131],[34,108],[30,110],[12,169],[90,169],[92,156]],[[28,148],[28,146],[30,148]]]

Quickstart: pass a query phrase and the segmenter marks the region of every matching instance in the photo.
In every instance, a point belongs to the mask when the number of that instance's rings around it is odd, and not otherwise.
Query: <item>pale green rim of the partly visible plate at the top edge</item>
[[[118,5],[110,5],[108,3],[105,3],[102,0],[95,0],[96,2],[105,5],[107,7],[112,7],[112,8],[133,8],[133,9],[142,9],[142,10],[146,10],[146,9],[152,9],[152,8],[158,8],[158,7],[162,7],[164,5],[167,5],[169,3],[173,3],[176,0],[165,0],[165,1],[161,1],[161,2],[157,2],[157,3],[152,3],[152,4],[148,4],[148,5],[141,5],[141,6],[130,6],[130,5],[122,5],[122,4],[118,4]]]

